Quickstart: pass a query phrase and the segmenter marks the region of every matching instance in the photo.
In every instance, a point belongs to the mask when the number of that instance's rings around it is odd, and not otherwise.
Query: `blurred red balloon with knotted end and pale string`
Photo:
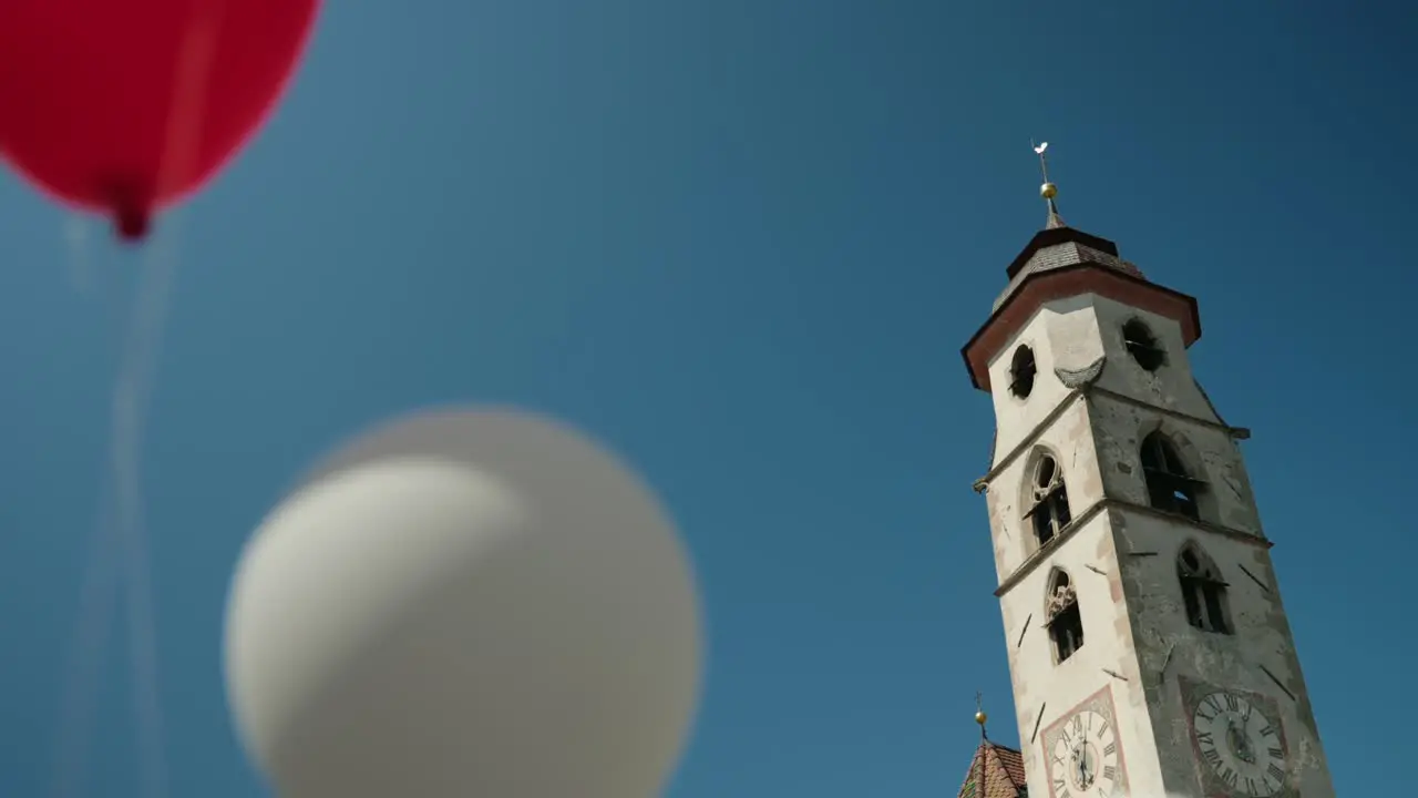
[[[0,152],[142,239],[279,99],[319,0],[0,0]]]

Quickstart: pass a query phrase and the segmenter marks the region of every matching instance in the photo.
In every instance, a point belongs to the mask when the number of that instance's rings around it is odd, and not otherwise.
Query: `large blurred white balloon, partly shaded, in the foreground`
[[[648,798],[699,699],[688,558],[641,481],[513,412],[356,440],[247,544],[227,692],[285,798]]]

